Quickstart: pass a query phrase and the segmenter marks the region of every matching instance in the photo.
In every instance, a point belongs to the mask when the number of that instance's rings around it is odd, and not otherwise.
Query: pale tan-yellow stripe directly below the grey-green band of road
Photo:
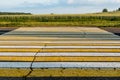
[[[13,40],[13,41],[27,41],[27,40],[37,40],[37,41],[102,41],[100,38],[99,39],[94,39],[94,38],[55,38],[55,37],[22,37],[22,36],[1,36],[0,41],[8,41],[8,40]],[[103,41],[108,41],[107,39],[103,39]],[[111,40],[112,41],[112,40]]]

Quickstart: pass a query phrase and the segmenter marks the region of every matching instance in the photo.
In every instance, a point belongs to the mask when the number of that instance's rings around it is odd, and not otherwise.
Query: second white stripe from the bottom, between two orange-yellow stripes
[[[36,53],[0,52],[0,56],[35,56]],[[36,56],[120,56],[120,53],[38,53]]]

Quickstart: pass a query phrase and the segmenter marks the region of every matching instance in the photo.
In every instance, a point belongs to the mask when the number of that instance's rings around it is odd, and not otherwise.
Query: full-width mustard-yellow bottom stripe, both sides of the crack
[[[0,77],[24,77],[30,69],[0,68]],[[119,77],[120,69],[91,69],[91,68],[50,68],[33,69],[28,77]]]

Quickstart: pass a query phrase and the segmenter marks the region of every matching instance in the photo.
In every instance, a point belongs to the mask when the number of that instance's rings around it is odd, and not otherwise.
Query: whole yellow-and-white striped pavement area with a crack
[[[96,27],[20,27],[1,31],[2,79],[119,76],[120,36],[114,33]]]

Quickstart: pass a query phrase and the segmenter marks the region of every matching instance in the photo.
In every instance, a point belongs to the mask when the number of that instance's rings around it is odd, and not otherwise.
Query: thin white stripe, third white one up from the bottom
[[[120,48],[120,46],[0,46],[0,48]]]

